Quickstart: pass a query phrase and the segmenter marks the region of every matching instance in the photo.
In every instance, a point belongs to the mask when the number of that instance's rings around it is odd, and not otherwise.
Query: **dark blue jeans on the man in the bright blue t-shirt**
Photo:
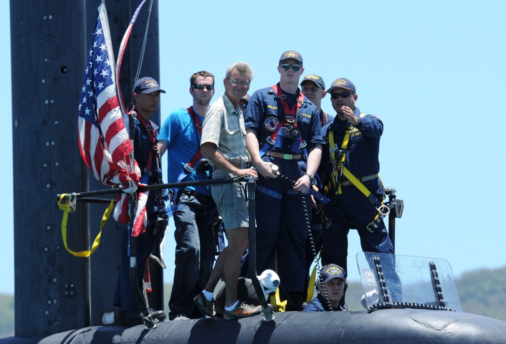
[[[193,314],[193,297],[206,286],[213,271],[212,221],[218,217],[212,196],[181,193],[174,211],[176,256],[169,319]],[[198,312],[197,312],[198,313]]]

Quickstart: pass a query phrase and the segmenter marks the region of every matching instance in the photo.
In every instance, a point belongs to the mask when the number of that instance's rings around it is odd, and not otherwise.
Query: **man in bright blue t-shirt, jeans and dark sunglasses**
[[[214,75],[207,71],[190,77],[193,105],[172,112],[158,137],[160,155],[167,152],[167,182],[208,180],[212,167],[200,153],[202,122],[214,95]],[[169,319],[201,317],[193,298],[204,289],[213,270],[213,222],[218,213],[209,185],[172,190],[176,231],[174,284],[169,300]],[[194,312],[196,311],[196,312]]]

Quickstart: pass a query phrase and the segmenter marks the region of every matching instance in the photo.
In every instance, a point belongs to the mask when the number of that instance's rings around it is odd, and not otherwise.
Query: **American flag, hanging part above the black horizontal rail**
[[[85,163],[102,184],[129,185],[129,177],[135,180],[137,173],[128,173],[132,145],[122,119],[113,68],[109,26],[102,4],[79,104],[79,146]]]

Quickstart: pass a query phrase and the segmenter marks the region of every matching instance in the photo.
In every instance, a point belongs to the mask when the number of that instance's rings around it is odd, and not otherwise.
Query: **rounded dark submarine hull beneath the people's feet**
[[[374,312],[277,313],[226,321],[223,318],[165,321],[157,327],[86,327],[47,337],[10,337],[10,343],[501,343],[506,323],[470,313],[383,309]]]

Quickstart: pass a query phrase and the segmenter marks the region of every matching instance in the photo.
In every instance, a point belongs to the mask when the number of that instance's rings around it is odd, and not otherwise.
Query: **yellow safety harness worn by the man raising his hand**
[[[360,117],[364,117],[365,114],[361,113]],[[367,225],[367,229],[369,232],[374,232],[376,228],[378,228],[378,225],[381,223],[381,220],[387,216],[390,213],[390,204],[383,203],[385,197],[383,196],[383,199],[379,200],[376,198],[375,195],[373,195],[369,189],[367,189],[362,182],[367,182],[369,180],[373,180],[376,178],[379,178],[378,174],[366,176],[362,178],[355,177],[349,170],[344,166],[344,161],[346,159],[346,151],[348,148],[349,138],[351,137],[352,132],[355,130],[355,127],[348,123],[348,126],[346,127],[346,131],[344,132],[344,139],[341,144],[341,149],[337,147],[337,144],[334,141],[334,132],[329,131],[329,152],[330,152],[330,161],[333,166],[332,170],[332,177],[329,181],[328,189],[334,190],[335,195],[342,194],[342,187],[343,186],[349,186],[354,185],[357,189],[360,190],[366,196],[372,204],[374,204],[374,207],[378,211],[376,214],[376,217],[374,220]],[[346,177],[347,181],[341,181],[341,177]],[[381,182],[381,185],[383,183]]]

